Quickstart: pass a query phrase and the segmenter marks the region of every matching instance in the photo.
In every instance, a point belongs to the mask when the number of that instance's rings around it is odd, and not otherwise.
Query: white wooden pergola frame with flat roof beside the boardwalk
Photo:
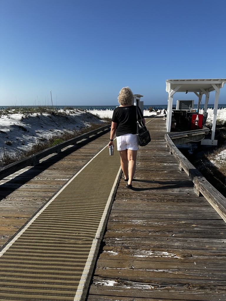
[[[166,127],[167,132],[171,129],[171,119],[172,119],[172,108],[173,108],[173,95],[176,92],[194,92],[198,97],[198,111],[202,100],[202,95],[205,94],[205,106],[204,112],[207,111],[209,93],[215,91],[215,102],[213,110],[213,121],[212,121],[212,135],[211,139],[204,139],[202,144],[217,145],[217,140],[215,140],[215,127],[217,120],[217,108],[218,100],[220,94],[220,88],[223,88],[226,79],[167,79],[166,80],[166,92],[168,92],[168,109],[167,109],[167,119]]]

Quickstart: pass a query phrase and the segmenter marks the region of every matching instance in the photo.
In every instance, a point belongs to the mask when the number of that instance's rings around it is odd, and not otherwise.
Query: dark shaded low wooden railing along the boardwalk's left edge
[[[74,145],[77,142],[87,139],[93,135],[97,135],[99,132],[104,132],[107,131],[111,128],[111,124],[108,124],[106,126],[102,126],[99,129],[95,129],[93,131],[87,132],[83,135],[77,136],[75,138],[69,139],[67,141],[64,141],[60,144],[54,145],[52,147],[46,148],[43,151],[39,151],[36,154],[33,154],[27,158],[18,160],[14,163],[11,163],[2,169],[0,169],[0,180],[3,178],[7,177],[8,175],[13,174],[14,172],[17,172],[18,170],[27,167],[27,166],[35,166],[36,164],[39,163],[39,160],[42,158],[45,158],[46,156],[53,154],[53,153],[59,153],[62,148],[67,147],[69,145]]]

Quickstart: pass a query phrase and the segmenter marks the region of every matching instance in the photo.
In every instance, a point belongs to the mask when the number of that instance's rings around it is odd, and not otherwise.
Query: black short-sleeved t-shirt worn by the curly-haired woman
[[[138,109],[138,120],[144,118],[140,108]],[[125,134],[137,134],[137,111],[136,106],[117,107],[112,115],[112,121],[118,123],[116,137]]]

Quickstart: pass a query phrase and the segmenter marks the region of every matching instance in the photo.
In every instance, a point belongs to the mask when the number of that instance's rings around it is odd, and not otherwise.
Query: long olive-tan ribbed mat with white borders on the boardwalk
[[[1,300],[80,301],[86,295],[121,176],[119,154],[110,157],[106,141],[88,161],[0,249]]]

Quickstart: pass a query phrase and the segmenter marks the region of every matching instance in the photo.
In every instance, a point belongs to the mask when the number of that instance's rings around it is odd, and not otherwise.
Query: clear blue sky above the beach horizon
[[[51,105],[50,90],[54,105],[117,105],[124,86],[167,104],[166,79],[226,78],[225,11],[225,0],[0,0],[0,106]]]

